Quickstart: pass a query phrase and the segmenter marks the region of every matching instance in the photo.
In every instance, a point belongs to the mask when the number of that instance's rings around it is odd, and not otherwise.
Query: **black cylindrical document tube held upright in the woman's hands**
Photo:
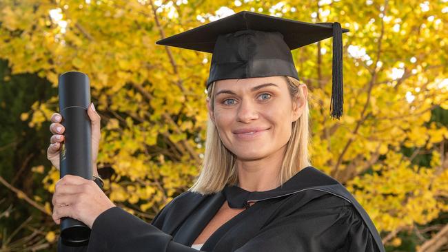
[[[59,113],[65,127],[60,149],[61,178],[67,174],[92,180],[92,129],[87,109],[90,81],[82,72],[59,76]],[[66,244],[88,242],[90,228],[79,220],[61,218],[61,238]]]

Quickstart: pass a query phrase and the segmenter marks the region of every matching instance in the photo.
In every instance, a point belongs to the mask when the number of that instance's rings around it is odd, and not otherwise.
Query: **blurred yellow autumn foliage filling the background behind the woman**
[[[241,10],[349,28],[341,120],[328,113],[331,39],[293,51],[312,165],[354,193],[387,251],[448,251],[447,0],[1,0],[0,251],[56,250],[46,149],[63,72],[90,77],[115,204],[150,222],[192,185],[211,55],[155,41]]]

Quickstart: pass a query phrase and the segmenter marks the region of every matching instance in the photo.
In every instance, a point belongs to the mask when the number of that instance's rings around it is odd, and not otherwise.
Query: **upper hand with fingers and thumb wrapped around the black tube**
[[[93,173],[95,175],[98,174],[96,170],[96,158],[98,157],[98,149],[99,149],[99,141],[101,140],[101,128],[100,121],[101,117],[94,110],[94,105],[89,106],[87,110],[87,114],[90,117],[91,125],[92,125],[92,168]],[[63,132],[65,128],[59,122],[63,120],[61,114],[54,113],[51,117],[52,124],[50,125],[50,132],[53,136],[50,138],[50,146],[47,149],[47,158],[51,161],[52,165],[59,170],[59,148],[61,147],[61,143],[65,140],[65,136]],[[58,127],[61,127],[61,131],[57,131]]]

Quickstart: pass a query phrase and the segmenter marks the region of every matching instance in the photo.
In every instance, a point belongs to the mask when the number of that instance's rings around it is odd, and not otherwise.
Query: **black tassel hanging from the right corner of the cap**
[[[333,23],[333,85],[330,115],[339,119],[343,115],[343,30],[340,23]]]

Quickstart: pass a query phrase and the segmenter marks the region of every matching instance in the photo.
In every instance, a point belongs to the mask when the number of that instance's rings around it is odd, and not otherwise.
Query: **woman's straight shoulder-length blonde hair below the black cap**
[[[285,78],[291,97],[303,97],[302,89],[298,87],[302,84],[301,81],[289,76],[283,77]],[[207,89],[211,109],[214,109],[215,83],[213,82]],[[309,107],[308,101],[305,101],[305,109],[303,110],[302,116],[292,123],[291,137],[287,143],[280,174],[278,174],[281,185],[298,171],[310,165],[308,143]],[[221,191],[225,185],[236,185],[238,183],[238,174],[235,161],[236,156],[223,145],[216,126],[208,118],[202,169],[196,177],[194,185],[188,191],[205,195]]]

